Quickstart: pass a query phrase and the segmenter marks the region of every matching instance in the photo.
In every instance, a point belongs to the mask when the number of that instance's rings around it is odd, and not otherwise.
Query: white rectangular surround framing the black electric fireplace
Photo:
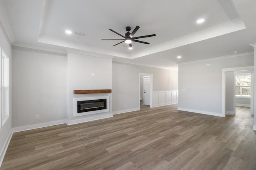
[[[107,109],[97,110],[97,111],[89,111],[83,113],[77,113],[77,102],[78,101],[86,101],[86,100],[97,100],[97,99],[107,99]],[[80,97],[73,98],[73,115],[74,117],[92,115],[96,113],[104,113],[109,112],[109,96],[96,96],[96,97]]]

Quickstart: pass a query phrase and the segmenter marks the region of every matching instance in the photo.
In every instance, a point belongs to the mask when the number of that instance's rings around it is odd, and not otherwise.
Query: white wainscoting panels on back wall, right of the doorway
[[[153,106],[164,106],[178,103],[178,90],[173,91],[153,91]]]

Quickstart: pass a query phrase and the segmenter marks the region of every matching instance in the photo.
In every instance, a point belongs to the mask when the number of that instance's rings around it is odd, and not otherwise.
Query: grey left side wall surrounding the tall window
[[[4,152],[6,149],[6,142],[9,139],[12,129],[12,48],[11,44],[4,32],[4,28],[0,22],[0,47],[4,50],[6,55],[9,57],[9,118],[4,123],[2,127],[0,127],[0,165],[2,163],[2,159],[4,158]]]

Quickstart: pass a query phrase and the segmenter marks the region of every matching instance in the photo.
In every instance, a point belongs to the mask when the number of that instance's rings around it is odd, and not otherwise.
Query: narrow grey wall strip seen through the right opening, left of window
[[[234,114],[234,72],[226,72],[226,114]]]

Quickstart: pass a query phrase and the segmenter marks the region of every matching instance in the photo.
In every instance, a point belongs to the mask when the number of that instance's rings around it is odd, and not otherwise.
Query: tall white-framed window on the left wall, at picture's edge
[[[1,81],[1,102],[0,102],[0,111],[1,111],[1,125],[7,121],[9,117],[9,58],[8,56],[2,51],[1,53],[1,74],[0,74],[0,81]]]

